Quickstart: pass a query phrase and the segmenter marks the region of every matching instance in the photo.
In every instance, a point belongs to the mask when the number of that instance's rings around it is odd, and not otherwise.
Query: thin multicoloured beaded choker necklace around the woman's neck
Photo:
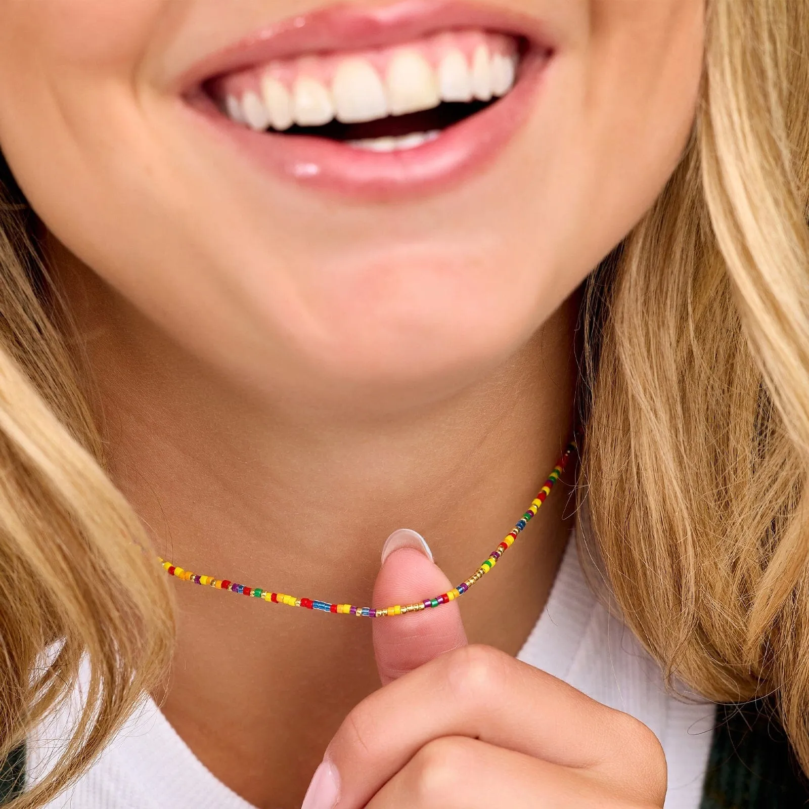
[[[163,565],[163,570],[170,576],[181,578],[185,582],[193,582],[194,584],[201,584],[203,587],[214,587],[214,590],[228,590],[231,593],[238,593],[239,595],[248,595],[254,599],[262,599],[264,601],[271,601],[273,604],[286,604],[288,607],[303,607],[305,609],[319,610],[320,612],[337,612],[341,615],[355,615],[361,618],[384,618],[392,615],[404,615],[405,612],[420,612],[423,609],[440,607],[442,604],[449,604],[451,601],[460,598],[473,584],[477,584],[489,573],[494,565],[498,563],[498,559],[502,557],[503,553],[514,544],[514,541],[519,536],[523,528],[526,527],[528,522],[540,510],[540,507],[545,501],[545,498],[551,493],[553,484],[559,480],[561,473],[565,471],[565,465],[570,460],[570,455],[576,448],[575,442],[571,442],[564,453],[562,453],[559,462],[553,467],[553,472],[548,476],[548,480],[544,482],[540,493],[528,506],[528,510],[519,519],[518,523],[506,535],[506,538],[495,548],[485,559],[481,566],[464,582],[461,582],[458,587],[447,593],[436,595],[434,599],[424,599],[417,601],[415,604],[396,604],[394,607],[385,607],[383,609],[373,609],[371,607],[355,607],[354,604],[330,604],[328,601],[315,601],[313,599],[297,599],[294,595],[284,595],[283,593],[273,593],[269,590],[260,590],[258,587],[248,587],[246,584],[236,584],[235,582],[228,582],[227,579],[214,578],[213,576],[201,576],[192,573],[190,570],[183,570],[181,567],[172,565],[172,562],[160,559]]]

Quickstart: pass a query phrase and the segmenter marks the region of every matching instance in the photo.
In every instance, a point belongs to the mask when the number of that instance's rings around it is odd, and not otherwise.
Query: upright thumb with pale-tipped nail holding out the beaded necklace
[[[414,604],[452,589],[415,531],[400,528],[382,549],[382,568],[374,585],[374,604]],[[436,609],[373,622],[379,677],[387,685],[439,654],[466,646],[466,632],[455,601]]]

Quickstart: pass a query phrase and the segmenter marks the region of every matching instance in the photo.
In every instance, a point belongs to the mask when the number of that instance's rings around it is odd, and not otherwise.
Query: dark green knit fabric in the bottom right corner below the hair
[[[720,705],[700,809],[809,807],[809,785],[765,706]]]

